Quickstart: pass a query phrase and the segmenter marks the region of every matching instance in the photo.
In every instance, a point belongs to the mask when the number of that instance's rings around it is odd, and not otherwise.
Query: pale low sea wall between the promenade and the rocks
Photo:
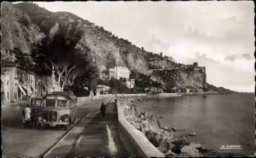
[[[135,142],[136,148],[142,157],[165,157],[146,137],[137,130],[132,124],[130,124],[123,114],[123,110],[119,104],[117,104],[118,122],[125,128],[127,133],[130,134],[132,142]]]

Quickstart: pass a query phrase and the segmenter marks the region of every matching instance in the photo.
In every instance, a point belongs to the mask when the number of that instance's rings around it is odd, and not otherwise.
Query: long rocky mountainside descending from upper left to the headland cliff
[[[180,87],[203,87],[204,84],[204,72],[176,69],[177,63],[146,52],[130,41],[118,38],[110,31],[69,12],[50,12],[33,3],[6,2],[1,6],[1,26],[1,54],[15,47],[29,53],[30,43],[45,36],[61,35],[70,46],[90,52],[100,71],[116,65],[126,66],[130,70],[151,75],[152,80],[161,82],[165,88],[173,87],[174,82]],[[173,70],[148,71],[154,65],[171,66]]]

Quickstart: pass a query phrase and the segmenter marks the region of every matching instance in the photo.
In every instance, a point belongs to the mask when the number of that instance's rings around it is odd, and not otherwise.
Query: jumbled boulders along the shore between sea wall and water
[[[166,127],[152,114],[142,111],[131,102],[131,98],[118,98],[117,104],[121,106],[124,116],[136,129],[140,130],[146,138],[168,157],[199,157],[206,156],[212,150],[202,147],[199,143],[188,142],[186,136],[175,133],[175,127]]]

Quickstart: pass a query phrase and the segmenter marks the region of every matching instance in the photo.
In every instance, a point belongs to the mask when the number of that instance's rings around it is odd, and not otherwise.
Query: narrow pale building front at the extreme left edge
[[[2,70],[2,72],[1,72],[1,100],[2,100],[2,105],[9,104],[11,102],[10,94],[11,94],[10,72],[8,70]]]

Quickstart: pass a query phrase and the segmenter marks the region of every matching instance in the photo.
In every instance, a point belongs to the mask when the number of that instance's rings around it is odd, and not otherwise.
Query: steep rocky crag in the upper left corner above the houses
[[[28,14],[14,7],[12,3],[1,4],[1,54],[19,48],[30,53],[30,43],[45,37]]]

